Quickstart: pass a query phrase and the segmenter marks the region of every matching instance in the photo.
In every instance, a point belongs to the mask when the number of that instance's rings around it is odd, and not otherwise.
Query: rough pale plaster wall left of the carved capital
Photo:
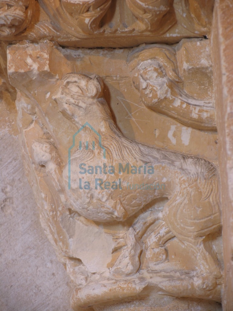
[[[71,311],[72,284],[41,228],[12,104],[1,102],[0,122],[0,310]]]

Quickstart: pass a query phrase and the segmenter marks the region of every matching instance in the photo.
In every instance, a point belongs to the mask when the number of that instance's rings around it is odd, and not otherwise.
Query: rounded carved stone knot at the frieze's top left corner
[[[0,36],[13,39],[29,25],[34,11],[34,0],[0,2]]]

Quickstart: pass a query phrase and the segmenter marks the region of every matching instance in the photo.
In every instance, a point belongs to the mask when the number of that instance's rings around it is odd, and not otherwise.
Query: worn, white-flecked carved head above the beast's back
[[[164,45],[133,50],[129,56],[129,68],[133,86],[142,97],[152,97],[154,103],[171,98],[171,85],[182,83],[174,50]]]

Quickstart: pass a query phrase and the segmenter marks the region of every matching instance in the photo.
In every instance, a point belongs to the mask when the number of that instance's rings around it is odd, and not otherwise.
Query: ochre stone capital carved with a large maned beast
[[[157,103],[161,94],[168,97],[173,84],[188,92],[182,77],[189,76],[194,60],[187,72],[181,72],[177,60],[198,43],[187,40],[184,46],[153,45],[118,54],[87,49],[77,54],[51,43],[8,47],[25,168],[42,225],[76,284],[76,310],[130,309],[133,304],[145,310],[144,301],[148,310],[158,304],[159,311],[164,306],[185,311],[190,302],[207,308],[208,300],[218,309],[223,278],[216,165],[197,150],[196,155],[182,153],[170,127],[167,139],[174,143],[175,138],[173,149],[142,143],[140,136],[130,139],[127,131],[118,129],[124,107],[126,120],[134,106],[143,118],[145,104],[153,104],[153,99]],[[117,66],[119,58],[124,66]],[[196,69],[198,63],[196,59]],[[123,84],[117,81],[119,72]],[[157,79],[170,79],[171,85],[163,91]],[[205,141],[213,139],[214,131],[206,133],[206,125],[201,126],[201,114],[199,124],[190,121],[189,128],[182,119],[184,111],[170,115],[166,106],[161,109],[165,113],[149,112],[162,118],[160,131],[171,122],[181,129],[180,135],[186,131]],[[137,120],[136,115],[131,118],[130,126],[141,128]],[[149,134],[142,136],[148,139]]]

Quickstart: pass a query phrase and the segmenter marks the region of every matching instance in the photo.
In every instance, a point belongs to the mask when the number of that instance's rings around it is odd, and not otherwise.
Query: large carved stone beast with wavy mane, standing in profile
[[[71,170],[71,189],[67,187],[68,165],[63,170],[64,188],[71,203],[71,209],[94,221],[125,221],[154,199],[166,197],[168,202],[159,216],[159,219],[163,221],[164,228],[160,228],[155,234],[152,261],[154,264],[158,264],[157,252],[164,253],[163,260],[167,258],[164,243],[161,243],[161,240],[166,237],[165,241],[167,241],[176,236],[184,243],[193,244],[198,256],[200,258],[203,256],[203,263],[208,262],[212,266],[210,270],[216,273],[216,266],[208,251],[204,250],[203,245],[203,237],[216,230],[220,225],[216,168],[201,158],[150,148],[133,143],[123,137],[112,121],[107,103],[102,97],[102,91],[103,83],[99,77],[91,78],[81,74],[68,74],[61,81],[56,100],[60,111],[68,118],[72,118],[78,127],[84,124],[85,120],[90,120],[93,127],[100,133],[101,143],[106,151],[106,162],[109,161],[108,164],[113,168],[118,167],[117,172],[109,173],[106,179],[111,185],[114,184],[114,181],[121,179],[122,189],[119,183],[117,189],[108,184],[105,192],[93,191],[93,188],[90,188],[86,189],[84,195],[83,189],[80,189],[80,184],[77,182],[83,177],[80,172],[80,163],[88,163],[95,167],[102,162],[102,155],[100,150],[98,150],[98,155],[94,156],[94,151],[87,152],[85,148],[81,150],[78,148],[71,157],[71,167],[73,168]],[[85,139],[94,141],[94,136],[95,133],[87,131],[84,141]],[[126,173],[122,168],[122,174],[119,174],[119,165],[122,163],[130,163],[134,168],[131,174],[127,168]],[[154,174],[145,174],[145,169],[147,170],[148,167],[153,168],[156,177]],[[143,169],[144,174],[135,172],[137,168]],[[94,177],[103,181],[102,173],[94,171],[93,174],[87,174],[85,182],[93,183]],[[159,189],[148,187],[135,189],[133,187],[131,189],[131,185],[143,183],[144,185],[153,185],[155,182],[160,184],[166,182],[167,187],[159,187]],[[103,187],[99,186],[98,188]],[[158,215],[153,221],[157,217]],[[151,220],[152,218],[150,215]],[[140,228],[140,230],[143,231],[144,228]],[[137,245],[136,240],[135,245]],[[133,249],[136,252],[137,247]],[[138,248],[138,252],[136,252],[137,266],[133,267],[132,265],[134,273],[139,268],[140,251],[141,249]],[[205,272],[208,270],[206,268]],[[119,270],[120,267],[117,269]],[[128,273],[125,273],[124,270],[121,272],[122,275],[128,275]],[[215,273],[213,277],[218,274]]]

